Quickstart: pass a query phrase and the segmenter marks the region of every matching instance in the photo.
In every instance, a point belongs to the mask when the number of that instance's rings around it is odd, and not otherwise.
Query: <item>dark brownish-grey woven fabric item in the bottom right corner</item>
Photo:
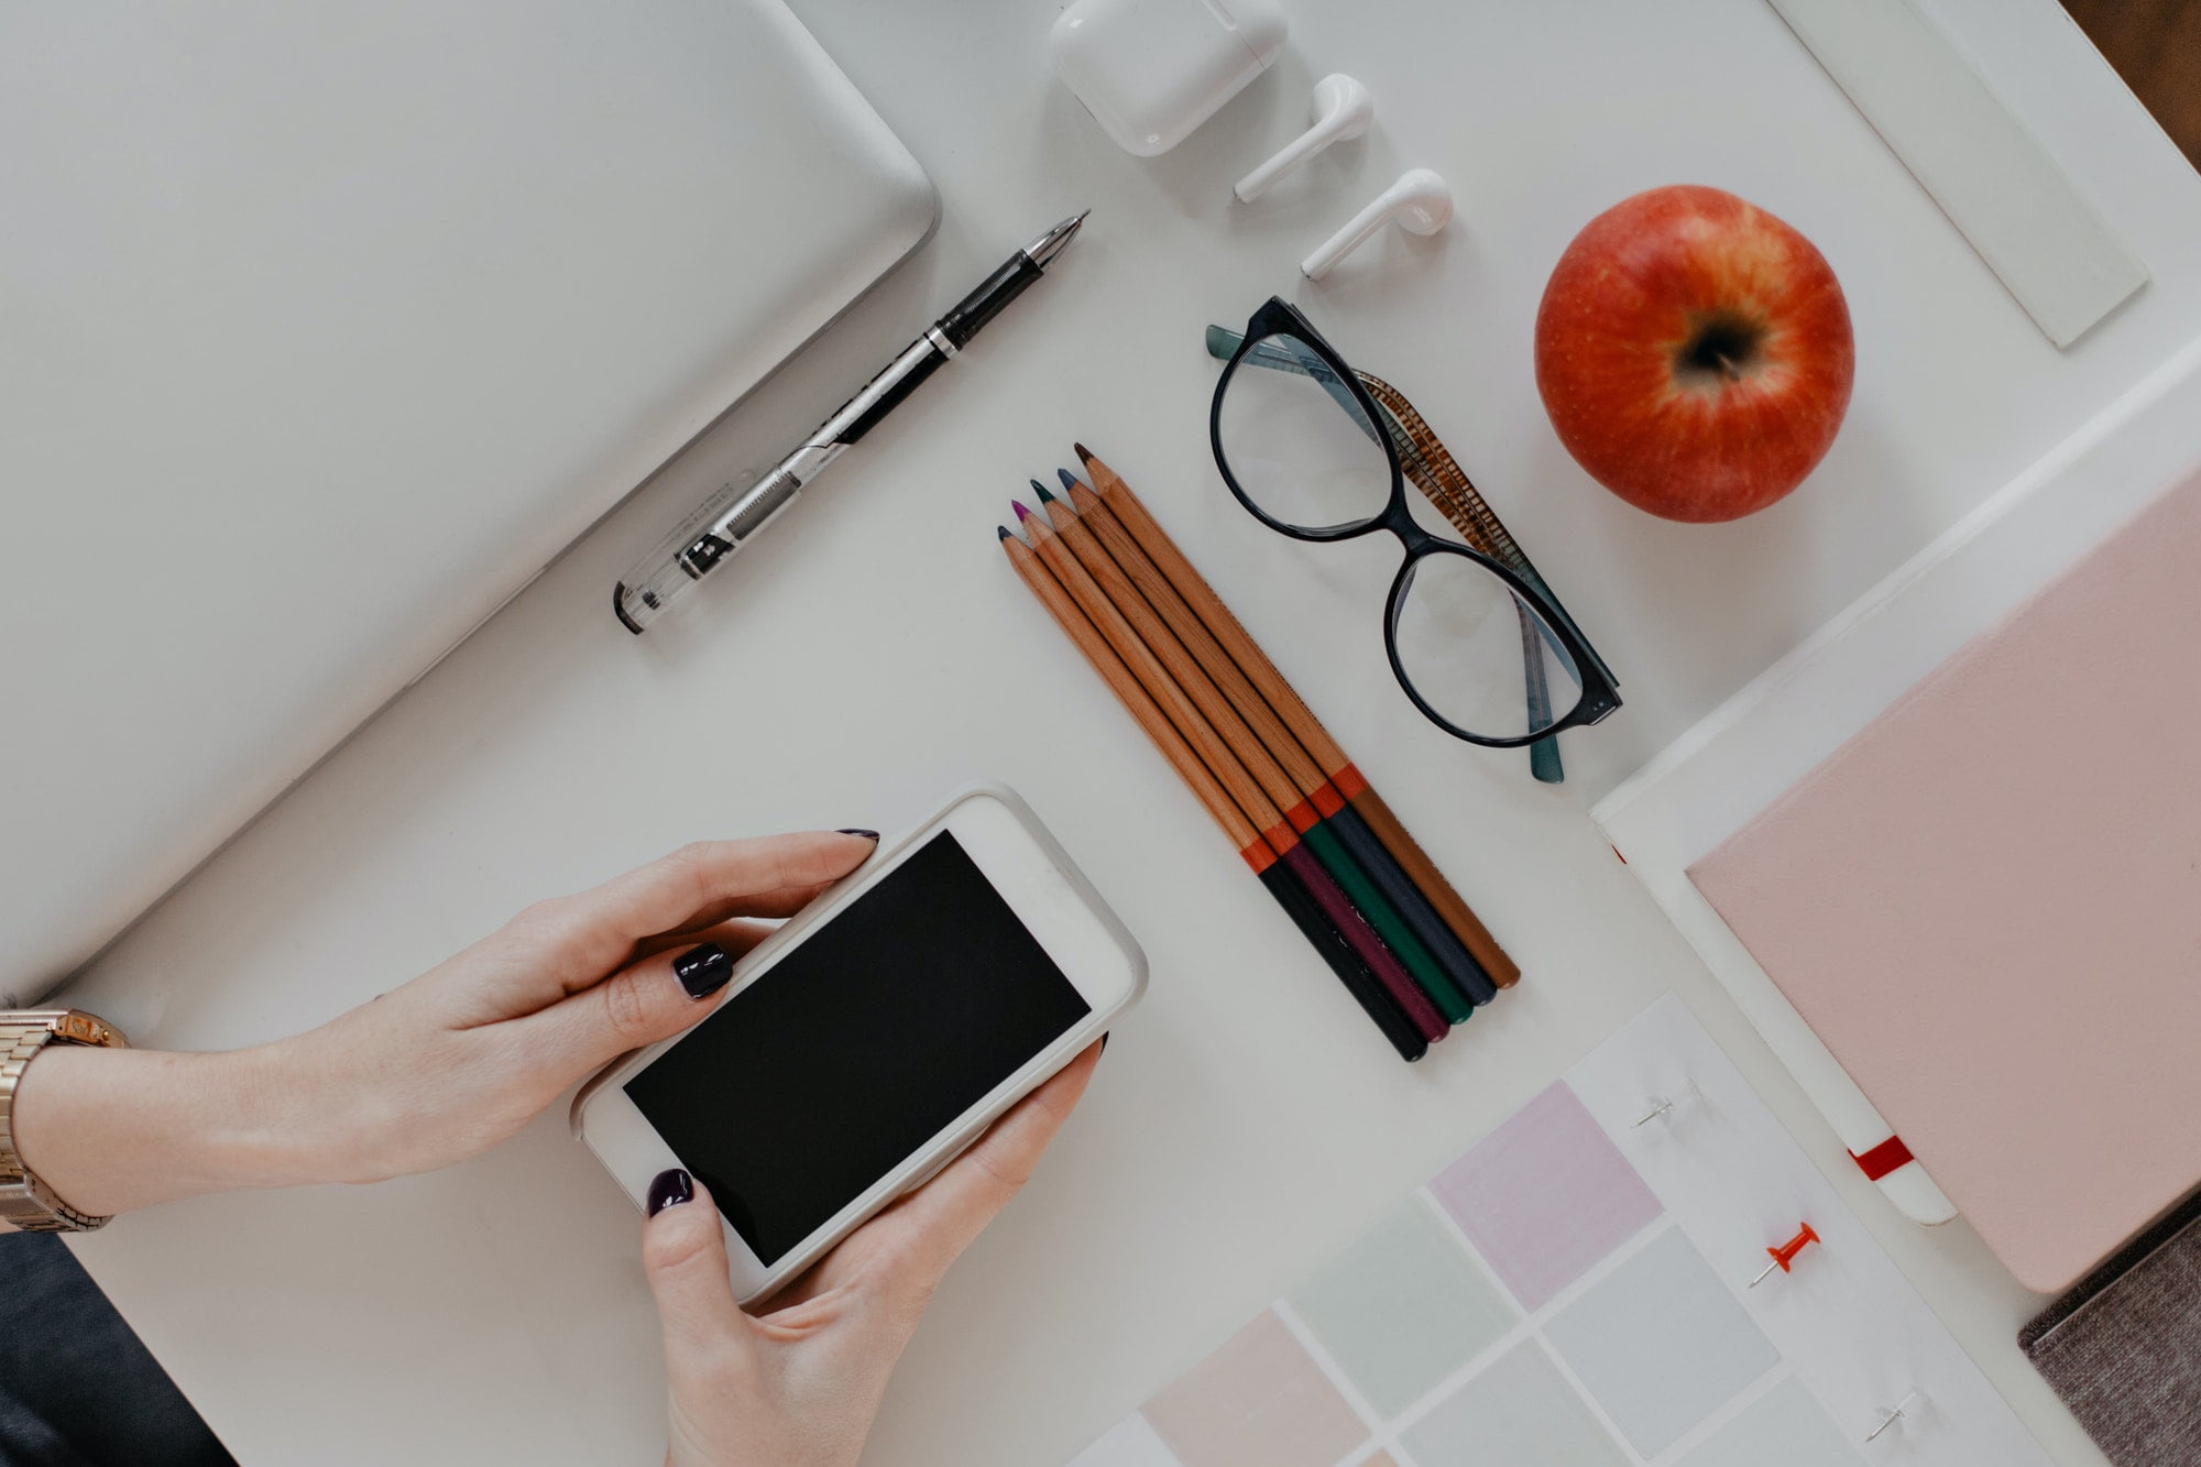
[[[2018,1346],[2117,1467],[2201,1463],[2201,1194],[2032,1319]]]

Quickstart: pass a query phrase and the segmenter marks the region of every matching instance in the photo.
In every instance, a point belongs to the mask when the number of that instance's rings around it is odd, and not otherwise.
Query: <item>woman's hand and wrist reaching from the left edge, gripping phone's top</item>
[[[220,1055],[48,1046],[15,1093],[24,1163],[73,1207],[379,1181],[475,1156],[572,1082],[704,1013],[733,958],[854,870],[869,833],[676,850],[370,1004]]]

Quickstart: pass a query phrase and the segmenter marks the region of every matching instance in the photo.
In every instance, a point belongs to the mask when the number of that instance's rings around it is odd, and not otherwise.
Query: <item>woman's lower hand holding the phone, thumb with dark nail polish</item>
[[[667,1467],[850,1467],[940,1275],[1032,1174],[1098,1055],[1072,1060],[757,1317],[733,1300],[709,1194],[687,1172],[658,1176],[643,1264],[665,1322]]]

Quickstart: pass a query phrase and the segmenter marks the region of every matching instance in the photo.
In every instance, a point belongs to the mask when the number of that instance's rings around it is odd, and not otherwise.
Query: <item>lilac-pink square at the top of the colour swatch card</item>
[[[1660,1214],[1651,1187],[1563,1079],[1428,1189],[1521,1308],[1550,1302]]]

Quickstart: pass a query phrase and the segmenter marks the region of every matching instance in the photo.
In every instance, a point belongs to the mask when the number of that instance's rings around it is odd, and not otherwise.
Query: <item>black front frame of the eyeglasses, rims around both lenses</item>
[[[1261,509],[1261,504],[1255,502],[1255,498],[1246,491],[1246,487],[1239,485],[1237,474],[1233,474],[1230,456],[1224,452],[1224,436],[1222,436],[1224,394],[1230,390],[1230,379],[1237,377],[1237,370],[1246,361],[1246,355],[1252,352],[1263,339],[1277,335],[1292,335],[1305,341],[1321,357],[1323,366],[1327,366],[1336,374],[1336,383],[1321,383],[1323,390],[1329,392],[1329,396],[1336,396],[1336,388],[1343,385],[1347,392],[1351,392],[1354,405],[1360,410],[1367,425],[1378,430],[1371,436],[1376,445],[1382,447],[1384,463],[1391,467],[1391,496],[1376,515],[1323,529],[1305,524],[1288,524],[1270,515],[1266,509]],[[1554,597],[1532,586],[1512,566],[1492,559],[1490,555],[1483,555],[1470,544],[1435,535],[1422,529],[1420,522],[1415,522],[1411,502],[1406,500],[1406,471],[1400,465],[1398,445],[1391,441],[1391,434],[1380,432],[1384,419],[1387,414],[1382,405],[1360,383],[1358,372],[1354,372],[1354,368],[1345,361],[1345,357],[1338,355],[1338,348],[1334,348],[1327,339],[1323,339],[1323,333],[1318,333],[1314,324],[1305,315],[1301,315],[1296,306],[1292,306],[1281,295],[1270,295],[1268,302],[1259,311],[1255,311],[1252,317],[1246,322],[1244,339],[1239,339],[1237,350],[1230,352],[1230,359],[1224,363],[1222,377],[1215,379],[1215,396],[1208,403],[1208,445],[1215,452],[1215,469],[1224,476],[1224,485],[1230,489],[1230,496],[1246,509],[1246,513],[1250,513],[1255,520],[1277,531],[1279,535],[1288,535],[1292,540],[1305,540],[1310,544],[1336,544],[1345,540],[1358,540],[1360,535],[1371,535],[1376,531],[1391,531],[1391,535],[1398,537],[1404,551],[1404,562],[1400,564],[1398,575],[1391,577],[1391,590],[1384,597],[1384,637],[1382,637],[1384,656],[1391,661],[1391,676],[1398,678],[1400,689],[1433,725],[1437,725],[1453,738],[1459,738],[1470,745],[1481,745],[1483,749],[1521,749],[1527,745],[1536,745],[1545,738],[1552,738],[1563,729],[1585,729],[1594,722],[1602,722],[1607,716],[1613,714],[1613,709],[1620,707],[1620,692],[1613,676],[1605,670],[1605,663],[1591,650],[1589,641],[1574,628],[1574,621],[1567,617],[1567,612],[1558,606]],[[1550,727],[1536,729],[1532,734],[1494,736],[1494,734],[1472,734],[1453,722],[1450,718],[1446,718],[1444,714],[1439,714],[1435,707],[1431,707],[1428,698],[1424,698],[1422,692],[1413,685],[1413,678],[1406,674],[1406,665],[1398,652],[1398,623],[1400,615],[1404,612],[1406,593],[1413,586],[1413,570],[1420,562],[1428,559],[1431,555],[1466,555],[1468,559],[1483,566],[1501,582],[1505,582],[1514,599],[1527,606],[1532,612],[1536,612],[1536,617],[1543,621],[1543,630],[1550,637],[1558,639],[1558,645],[1567,652],[1567,659],[1574,663],[1574,672],[1583,683],[1583,696],[1565,716],[1556,718]]]

